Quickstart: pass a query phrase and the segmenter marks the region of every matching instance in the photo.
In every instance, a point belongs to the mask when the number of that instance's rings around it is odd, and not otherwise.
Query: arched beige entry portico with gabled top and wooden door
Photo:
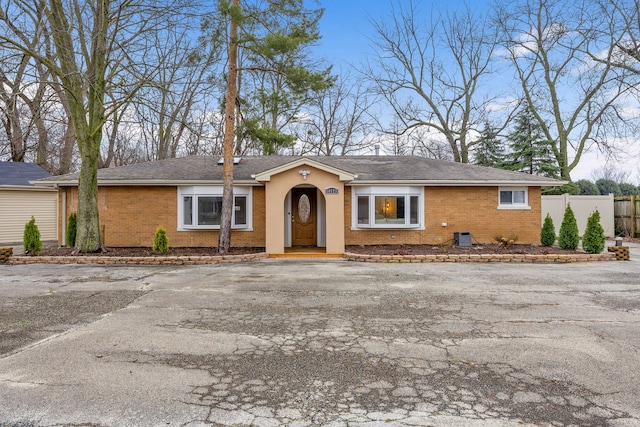
[[[266,251],[326,247],[344,253],[344,184],[355,176],[301,158],[255,176],[265,186]]]

